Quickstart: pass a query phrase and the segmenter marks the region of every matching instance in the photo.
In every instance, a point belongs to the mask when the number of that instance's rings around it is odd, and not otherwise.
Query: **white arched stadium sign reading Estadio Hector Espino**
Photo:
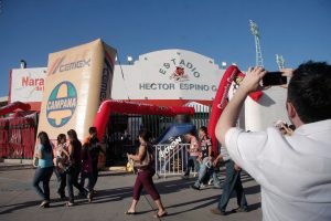
[[[116,70],[113,98],[213,101],[223,71],[214,61],[185,50],[142,54],[132,65]]]

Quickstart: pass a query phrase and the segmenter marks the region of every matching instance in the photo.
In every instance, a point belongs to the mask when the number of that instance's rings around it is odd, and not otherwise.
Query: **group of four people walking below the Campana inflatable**
[[[89,136],[83,145],[77,138],[74,129],[67,131],[68,143],[65,134],[57,136],[56,151],[53,151],[53,145],[45,131],[38,135],[38,149],[35,159],[38,167],[33,178],[33,187],[42,198],[40,207],[50,207],[50,179],[52,173],[57,178],[57,193],[61,199],[68,199],[67,207],[74,206],[74,187],[79,191],[81,197],[87,197],[92,202],[96,193],[94,187],[98,179],[98,156],[105,152],[97,138],[95,127],[89,128]],[[81,181],[78,182],[81,175]],[[85,187],[85,179],[88,183]],[[42,182],[43,189],[40,187]],[[67,197],[65,194],[67,190]]]

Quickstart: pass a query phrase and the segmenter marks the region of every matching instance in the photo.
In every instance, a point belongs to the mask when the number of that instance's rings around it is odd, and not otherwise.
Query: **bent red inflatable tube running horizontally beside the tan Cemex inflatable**
[[[174,116],[179,114],[193,115],[194,108],[179,106],[164,107],[124,101],[105,101],[99,106],[94,120],[99,140],[102,140],[104,136],[110,113]]]

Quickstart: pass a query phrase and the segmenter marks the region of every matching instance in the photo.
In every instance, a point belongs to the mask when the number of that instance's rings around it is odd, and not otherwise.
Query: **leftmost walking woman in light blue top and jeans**
[[[53,173],[53,148],[49,135],[44,131],[38,135],[39,146],[34,155],[38,158],[38,168],[33,178],[33,188],[42,198],[41,208],[50,207],[50,180]],[[40,187],[43,183],[43,189]]]

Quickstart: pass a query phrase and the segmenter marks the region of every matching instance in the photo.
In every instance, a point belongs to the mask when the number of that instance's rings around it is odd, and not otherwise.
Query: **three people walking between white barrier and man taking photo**
[[[193,169],[197,172],[197,179],[191,188],[201,190],[204,183],[213,183],[215,189],[223,189],[217,209],[212,210],[216,214],[226,213],[226,206],[231,194],[233,191],[236,191],[238,208],[233,210],[233,212],[247,212],[248,204],[241,179],[242,169],[231,159],[226,149],[221,147],[220,154],[216,157],[214,156],[212,140],[205,126],[199,128],[199,139],[195,137],[194,131],[190,131],[186,135],[186,139],[190,143],[190,148],[188,149],[190,158],[183,178],[189,178],[193,165]],[[221,180],[217,176],[221,165],[225,166],[226,172],[223,186],[221,186]]]

